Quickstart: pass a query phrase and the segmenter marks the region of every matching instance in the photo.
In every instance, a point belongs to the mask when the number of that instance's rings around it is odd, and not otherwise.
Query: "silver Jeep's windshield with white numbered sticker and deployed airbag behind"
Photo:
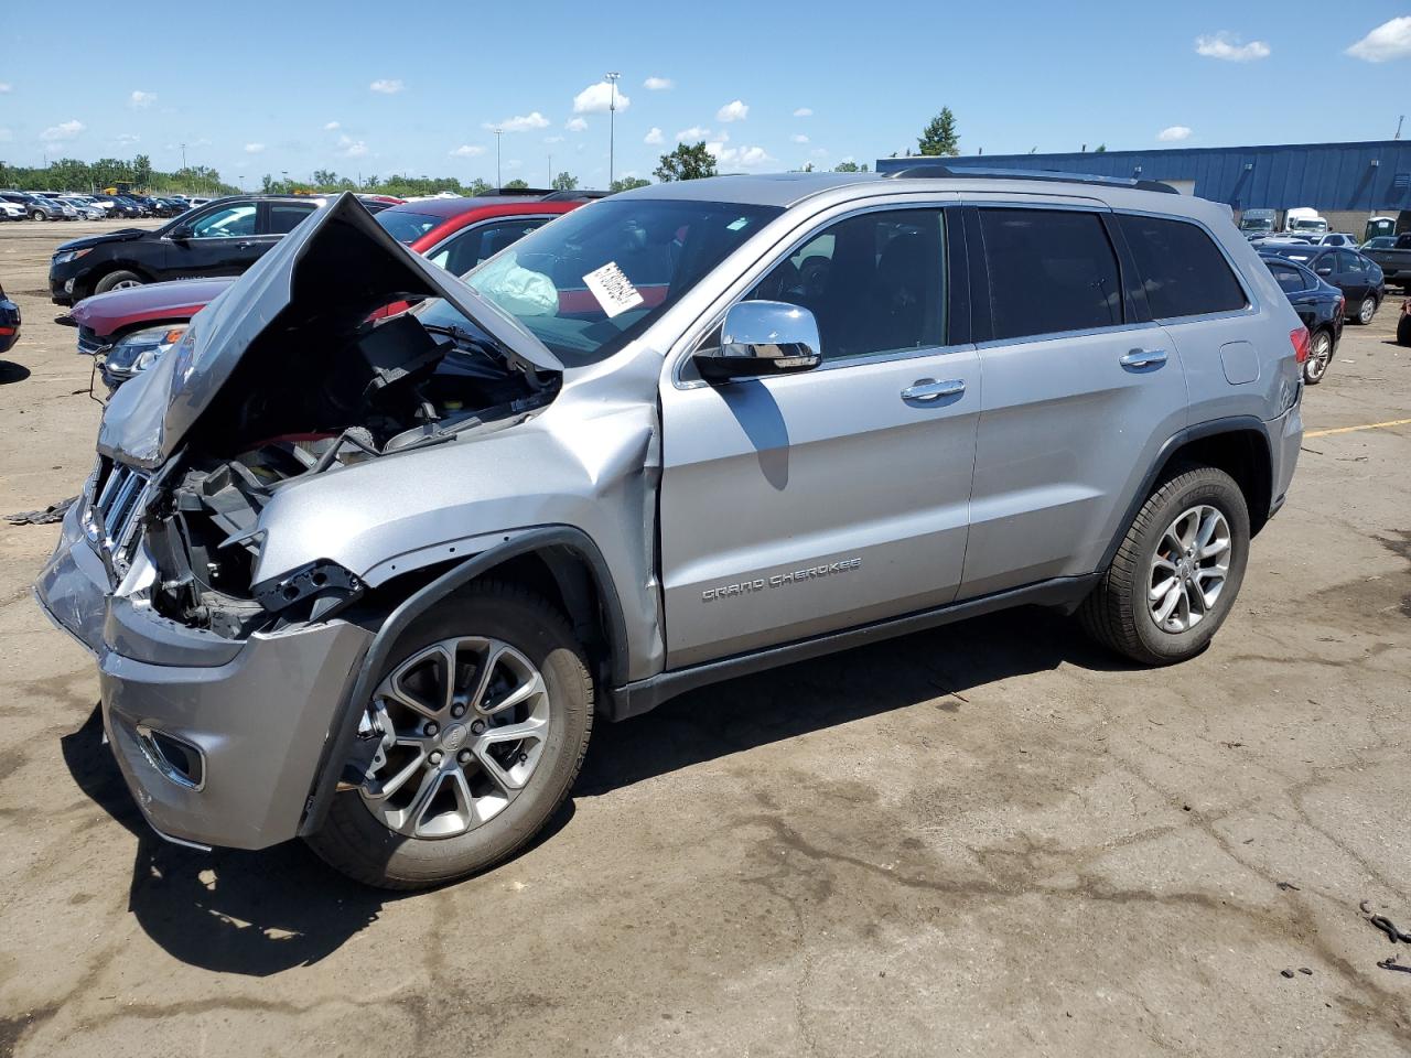
[[[567,213],[473,269],[466,282],[566,367],[641,334],[782,210],[724,202],[605,199]],[[443,302],[425,323],[456,323]]]

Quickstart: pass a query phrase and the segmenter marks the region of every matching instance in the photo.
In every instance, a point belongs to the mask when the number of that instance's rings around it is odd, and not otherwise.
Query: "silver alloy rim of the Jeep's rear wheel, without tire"
[[[1167,526],[1151,559],[1147,607],[1163,632],[1188,632],[1209,615],[1229,576],[1229,522],[1209,505],[1188,508]]]

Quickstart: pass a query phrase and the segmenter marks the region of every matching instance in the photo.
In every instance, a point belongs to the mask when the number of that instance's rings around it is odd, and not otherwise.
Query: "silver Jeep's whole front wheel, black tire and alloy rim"
[[[378,676],[373,767],[308,838],[341,873],[422,889],[514,855],[557,811],[593,734],[593,679],[563,615],[488,581],[415,621]]]

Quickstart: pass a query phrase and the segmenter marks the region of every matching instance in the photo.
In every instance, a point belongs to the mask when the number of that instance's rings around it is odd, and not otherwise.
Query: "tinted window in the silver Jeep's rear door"
[[[1118,257],[1096,213],[982,209],[996,339],[1122,323]]]

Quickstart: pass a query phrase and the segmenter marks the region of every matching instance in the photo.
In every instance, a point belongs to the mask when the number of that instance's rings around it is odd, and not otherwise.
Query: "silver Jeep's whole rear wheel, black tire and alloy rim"
[[[1249,508],[1235,480],[1187,467],[1141,505],[1079,608],[1088,633],[1140,664],[1201,653],[1229,615],[1249,561]]]

